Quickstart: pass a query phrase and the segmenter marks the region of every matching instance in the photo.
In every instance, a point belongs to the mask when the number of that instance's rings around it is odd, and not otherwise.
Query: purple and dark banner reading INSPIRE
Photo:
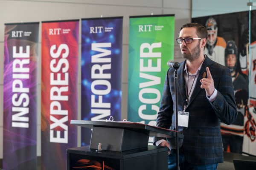
[[[39,23],[5,24],[3,169],[36,169]]]

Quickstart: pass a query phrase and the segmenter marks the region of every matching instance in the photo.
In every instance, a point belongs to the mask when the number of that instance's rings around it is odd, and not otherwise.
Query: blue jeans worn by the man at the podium
[[[217,170],[218,164],[189,164],[185,159],[183,150],[181,149],[179,152],[179,166],[180,170]],[[168,155],[168,170],[176,170],[176,150],[171,150],[171,154]]]

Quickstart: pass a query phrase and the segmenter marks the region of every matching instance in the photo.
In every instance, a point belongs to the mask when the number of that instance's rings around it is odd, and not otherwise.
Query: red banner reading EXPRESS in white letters
[[[77,146],[79,20],[42,22],[41,166],[64,170]]]

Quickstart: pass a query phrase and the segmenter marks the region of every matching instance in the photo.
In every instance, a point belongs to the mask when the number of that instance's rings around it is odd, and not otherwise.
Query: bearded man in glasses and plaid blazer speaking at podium
[[[179,139],[181,169],[217,169],[223,162],[220,122],[232,124],[237,116],[230,69],[204,54],[207,30],[198,23],[180,28],[177,42],[183,57],[177,69],[178,111],[189,112],[188,127]],[[157,126],[175,130],[174,68],[166,75]],[[187,99],[187,102],[186,102]],[[167,142],[168,141],[168,142]],[[168,168],[176,168],[175,139],[154,138],[154,144],[169,147]]]

